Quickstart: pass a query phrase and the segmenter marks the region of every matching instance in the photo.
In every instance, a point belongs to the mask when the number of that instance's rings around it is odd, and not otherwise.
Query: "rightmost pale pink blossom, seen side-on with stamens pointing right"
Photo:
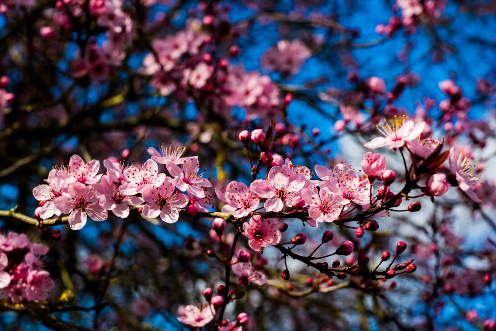
[[[482,185],[479,181],[480,176],[474,175],[475,166],[470,162],[465,153],[455,153],[453,147],[449,151],[449,168],[454,174],[458,186],[475,202],[482,202],[472,190],[474,185]]]

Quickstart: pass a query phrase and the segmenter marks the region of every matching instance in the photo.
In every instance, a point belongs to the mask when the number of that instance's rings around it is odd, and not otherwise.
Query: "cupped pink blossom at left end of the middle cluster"
[[[232,181],[226,187],[225,197],[227,203],[236,208],[233,216],[242,218],[248,216],[258,208],[260,200],[249,190],[245,183]]]

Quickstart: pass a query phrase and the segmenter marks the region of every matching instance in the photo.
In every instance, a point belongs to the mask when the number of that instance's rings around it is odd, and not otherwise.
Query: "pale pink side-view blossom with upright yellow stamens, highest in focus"
[[[367,148],[400,148],[406,142],[418,139],[426,126],[425,122],[414,123],[412,120],[406,121],[406,117],[402,120],[395,118],[394,122],[389,125],[377,125],[377,129],[384,135],[384,137],[376,137],[371,141],[364,144]]]

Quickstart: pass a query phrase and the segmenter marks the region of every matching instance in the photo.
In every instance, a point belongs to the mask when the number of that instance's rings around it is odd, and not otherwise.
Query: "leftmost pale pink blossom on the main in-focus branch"
[[[47,219],[53,215],[60,216],[62,211],[55,206],[55,199],[62,196],[67,190],[69,183],[74,182],[74,178],[66,171],[52,169],[48,173],[47,184],[40,184],[33,189],[33,196],[40,201],[40,217]]]

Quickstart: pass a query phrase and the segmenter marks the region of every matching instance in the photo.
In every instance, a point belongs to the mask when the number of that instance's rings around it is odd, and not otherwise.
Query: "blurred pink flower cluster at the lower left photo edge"
[[[39,260],[47,253],[48,247],[32,243],[25,234],[0,234],[0,296],[12,302],[45,300],[55,286]]]

